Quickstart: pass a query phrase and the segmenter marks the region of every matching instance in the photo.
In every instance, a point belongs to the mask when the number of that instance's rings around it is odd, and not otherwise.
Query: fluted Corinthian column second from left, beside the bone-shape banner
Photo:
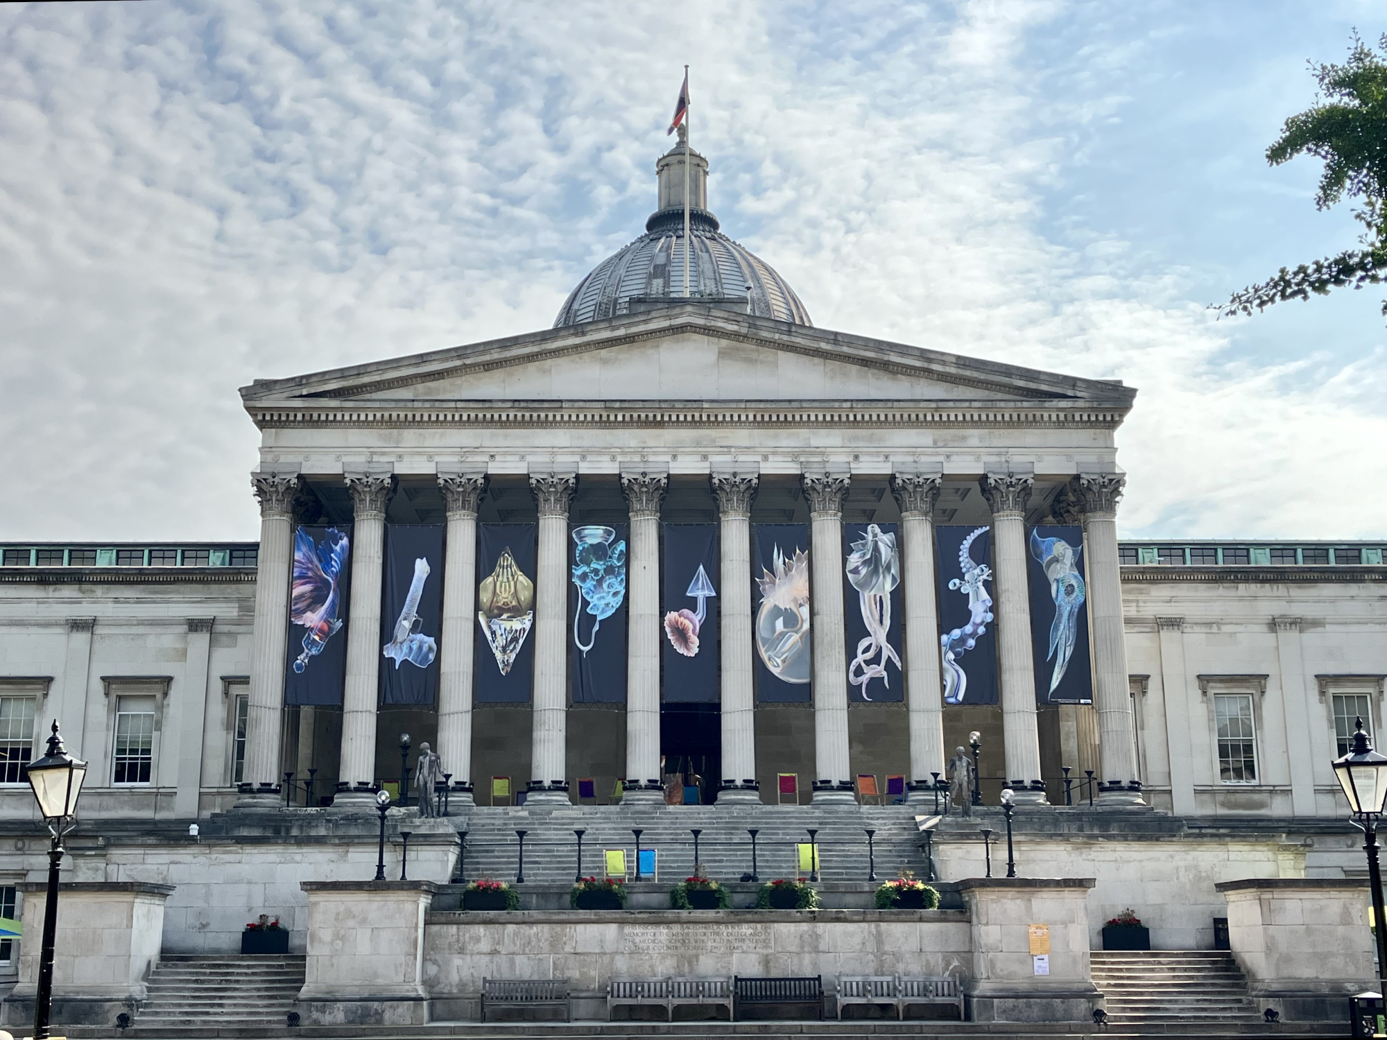
[[[341,765],[333,808],[373,808],[376,702],[380,696],[380,580],[386,562],[386,503],[394,477],[347,477],[352,505],[351,613],[343,688]]]

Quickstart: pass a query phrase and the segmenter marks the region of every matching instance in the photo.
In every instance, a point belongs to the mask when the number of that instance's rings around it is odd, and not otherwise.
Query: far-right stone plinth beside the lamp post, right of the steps
[[[1254,878],[1214,886],[1227,899],[1229,944],[1259,1007],[1287,1021],[1348,1014],[1348,997],[1376,990],[1368,883],[1337,878]]]

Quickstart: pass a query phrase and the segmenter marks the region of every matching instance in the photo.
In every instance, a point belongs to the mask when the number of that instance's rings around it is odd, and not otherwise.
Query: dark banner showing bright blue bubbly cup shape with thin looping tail
[[[573,703],[626,702],[627,524],[574,524],[570,535],[569,638]]]

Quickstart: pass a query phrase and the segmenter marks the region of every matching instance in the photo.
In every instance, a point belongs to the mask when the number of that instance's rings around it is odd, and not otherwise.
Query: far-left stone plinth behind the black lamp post
[[[6,998],[6,1021],[33,1022],[39,983],[46,883],[25,883],[19,983]],[[58,886],[58,930],[53,957],[51,1021],[111,1026],[129,1001],[143,1001],[158,964],[164,901],[172,885],[64,882]]]

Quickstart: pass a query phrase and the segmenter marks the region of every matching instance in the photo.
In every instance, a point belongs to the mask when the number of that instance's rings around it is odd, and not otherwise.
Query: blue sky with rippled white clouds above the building
[[[1126,538],[1384,538],[1387,295],[1269,168],[1380,3],[0,4],[0,538],[252,539],[237,387],[548,327],[682,65],[723,229],[820,327],[1139,388]]]

